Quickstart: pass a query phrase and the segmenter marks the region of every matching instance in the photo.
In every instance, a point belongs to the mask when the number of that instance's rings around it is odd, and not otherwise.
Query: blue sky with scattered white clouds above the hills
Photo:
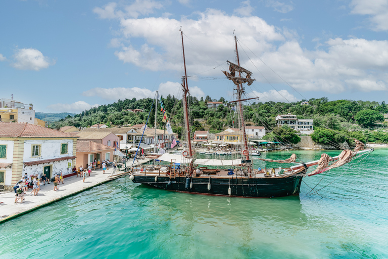
[[[388,0],[1,1],[0,24],[0,97],[41,112],[181,96],[180,26],[193,96],[233,99],[234,31],[248,97],[387,97]]]

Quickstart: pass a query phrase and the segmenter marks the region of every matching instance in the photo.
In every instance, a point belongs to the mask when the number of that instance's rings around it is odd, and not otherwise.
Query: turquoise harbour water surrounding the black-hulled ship
[[[308,161],[321,152],[297,154]],[[300,196],[245,199],[167,192],[121,178],[0,225],[0,255],[388,258],[387,157],[388,149],[377,149],[323,179],[305,178],[309,186],[321,180],[323,187],[343,174],[319,191],[322,197],[307,195],[305,183]],[[255,166],[265,162],[255,160]]]

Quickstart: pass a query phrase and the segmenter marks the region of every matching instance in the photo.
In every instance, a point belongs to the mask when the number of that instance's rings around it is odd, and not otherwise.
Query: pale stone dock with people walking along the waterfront
[[[138,162],[142,164],[147,163],[150,160],[151,159],[139,159]],[[127,167],[130,167],[131,163],[132,161],[127,161]],[[138,163],[135,162],[134,165],[136,166]],[[15,204],[16,197],[13,190],[12,192],[1,192],[0,202],[3,203],[0,204],[0,224],[47,204],[93,188],[94,186],[115,180],[124,175],[126,175],[126,173],[123,170],[114,171],[113,166],[105,170],[105,174],[103,174],[102,169],[92,170],[90,177],[86,177],[85,182],[82,181],[82,177],[71,176],[65,178],[64,184],[60,183],[58,185],[58,191],[54,191],[54,183],[46,185],[41,184],[37,196],[31,196],[30,193],[32,189],[29,189],[24,195],[23,203],[18,202],[17,204]]]

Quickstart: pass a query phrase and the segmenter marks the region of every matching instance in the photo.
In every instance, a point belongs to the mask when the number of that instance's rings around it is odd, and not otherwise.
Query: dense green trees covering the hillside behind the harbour
[[[174,96],[163,98],[163,103],[170,118],[173,131],[179,134],[183,128],[183,105],[182,100]],[[208,108],[207,102],[221,101],[224,104],[217,108]],[[302,100],[307,101],[307,100]],[[76,127],[88,127],[95,123],[105,123],[108,126],[122,126],[128,124],[140,124],[147,121],[153,99],[145,98],[136,100],[125,99],[119,100],[116,103],[102,105],[97,108],[85,110],[80,114],[67,116],[61,119],[58,123],[53,124],[53,127],[61,127],[66,125],[74,125]],[[379,130],[380,135],[374,136],[369,132],[359,133],[359,138],[364,141],[380,141],[384,142],[385,137],[382,135],[387,123],[384,122],[383,114],[388,112],[388,107],[385,102],[370,101],[352,101],[352,100],[336,100],[328,101],[327,98],[312,98],[308,100],[309,105],[301,105],[301,102],[282,103],[282,102],[259,102],[245,105],[244,118],[248,125],[265,126],[268,136],[266,139],[273,139],[274,135],[281,134],[282,137],[289,138],[288,141],[294,143],[298,138],[290,134],[289,130],[278,130],[275,117],[278,114],[291,113],[297,115],[298,118],[313,118],[314,130],[313,140],[318,143],[329,143],[329,141],[342,143],[347,141],[352,142],[352,135],[357,135],[356,132],[365,130]],[[212,99],[210,96],[201,98],[188,98],[188,109],[190,113],[190,125],[192,132],[196,130],[209,130],[210,133],[218,133],[227,127],[237,127],[238,115],[232,110],[235,104],[228,104],[224,98],[219,100]],[[142,109],[143,112],[133,113],[126,111],[127,109]],[[157,125],[163,128],[162,112],[160,105],[157,108]],[[155,105],[151,109],[149,126],[153,126],[155,121]],[[271,130],[274,130],[271,134]],[[280,131],[280,132],[277,132]],[[284,132],[285,131],[285,132]],[[356,136],[355,136],[356,137]]]

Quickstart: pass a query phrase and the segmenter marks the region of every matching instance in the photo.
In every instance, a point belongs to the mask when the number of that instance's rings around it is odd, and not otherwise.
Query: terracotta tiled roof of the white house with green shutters
[[[0,137],[10,138],[77,138],[51,128],[30,123],[0,122]]]

